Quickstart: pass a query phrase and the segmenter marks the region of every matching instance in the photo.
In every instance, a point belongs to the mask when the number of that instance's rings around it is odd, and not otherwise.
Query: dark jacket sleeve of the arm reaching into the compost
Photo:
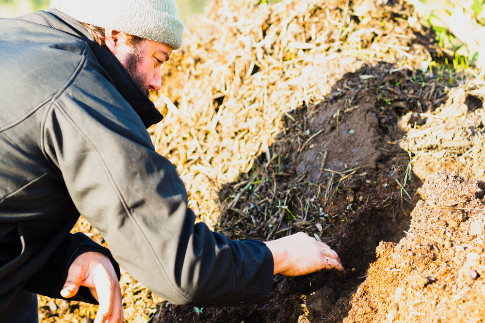
[[[194,224],[176,168],[89,64],[46,113],[44,151],[113,257],[175,304],[227,306],[269,296],[273,257],[266,245],[231,241]]]

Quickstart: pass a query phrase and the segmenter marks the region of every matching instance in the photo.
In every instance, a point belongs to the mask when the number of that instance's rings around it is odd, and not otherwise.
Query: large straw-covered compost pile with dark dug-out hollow
[[[405,1],[214,0],[162,69],[155,147],[200,221],[238,240],[307,232],[346,275],[276,275],[265,302],[194,308],[123,273],[126,321],[485,317],[484,83],[447,52]],[[40,310],[87,323],[96,307]]]

